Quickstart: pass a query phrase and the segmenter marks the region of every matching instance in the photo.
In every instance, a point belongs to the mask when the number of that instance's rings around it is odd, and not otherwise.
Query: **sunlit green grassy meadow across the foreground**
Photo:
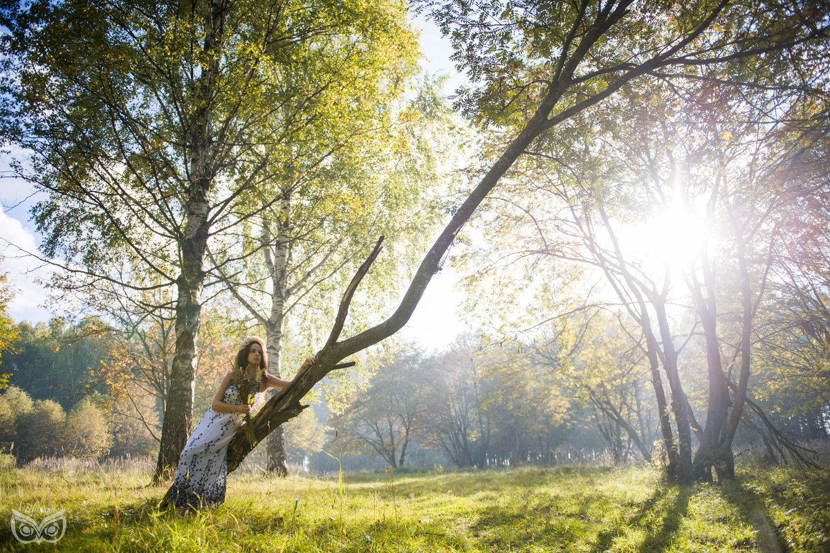
[[[764,467],[669,486],[651,467],[232,475],[227,502],[159,513],[149,473],[0,471],[2,551],[830,551],[830,472]],[[56,545],[21,546],[12,509],[66,511]]]

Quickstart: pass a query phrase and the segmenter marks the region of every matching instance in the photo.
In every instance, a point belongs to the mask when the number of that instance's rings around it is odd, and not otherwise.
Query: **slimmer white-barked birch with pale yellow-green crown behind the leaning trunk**
[[[404,61],[376,64],[359,80],[352,74],[342,80],[351,79],[365,95],[369,81],[403,81],[412,69]],[[351,70],[344,64],[344,71]],[[229,245],[216,256],[224,260],[217,260],[222,281],[264,328],[269,371],[279,378],[289,317],[297,334],[328,320],[332,309],[325,297],[342,282],[344,270],[359,266],[369,252],[366,244],[378,235],[391,239],[397,255],[383,260],[384,270],[373,272],[369,284],[400,281],[413,263],[407,252],[422,247],[432,231],[435,215],[426,200],[436,179],[439,144],[446,141],[437,127],[447,125],[449,110],[437,99],[434,83],[406,103],[400,97],[403,86],[375,86],[380,90],[371,94],[374,110],[346,113],[334,123],[316,121],[280,151],[269,152],[271,163],[283,168],[273,184],[280,202],[273,208],[255,203],[261,216],[239,237],[242,251]],[[349,105],[342,97],[348,94],[346,89],[332,101]],[[245,252],[251,248],[254,255]],[[268,468],[285,475],[281,434],[276,428],[268,440]]]

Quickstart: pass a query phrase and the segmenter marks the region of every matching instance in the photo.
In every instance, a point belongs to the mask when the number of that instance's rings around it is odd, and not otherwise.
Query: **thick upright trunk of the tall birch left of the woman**
[[[210,2],[204,7],[205,62],[199,77],[193,126],[188,132],[191,182],[185,205],[186,223],[179,249],[182,273],[178,276],[176,301],[176,351],[170,369],[167,405],[164,409],[159,459],[154,482],[168,477],[178,464],[178,455],[187,443],[193,419],[193,391],[195,386],[196,340],[201,296],[204,282],[204,257],[207,249],[210,223],[210,192],[212,185],[211,120],[212,100],[216,93],[219,56],[224,32],[227,4]]]

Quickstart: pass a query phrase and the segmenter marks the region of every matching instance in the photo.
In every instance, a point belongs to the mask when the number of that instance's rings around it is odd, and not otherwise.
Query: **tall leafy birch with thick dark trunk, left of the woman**
[[[2,134],[31,154],[18,174],[47,193],[32,212],[43,251],[93,287],[176,289],[156,478],[188,437],[208,241],[229,212],[256,215],[239,208],[255,190],[278,202],[265,184],[279,169],[261,152],[325,111],[320,99],[339,86],[325,60],[344,49],[393,60],[411,33],[404,12],[396,2],[3,4]],[[121,280],[119,266],[160,282]]]

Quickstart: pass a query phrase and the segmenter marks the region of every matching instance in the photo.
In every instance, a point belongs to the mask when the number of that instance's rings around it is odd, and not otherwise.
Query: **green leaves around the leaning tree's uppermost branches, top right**
[[[638,76],[681,76],[696,66],[751,62],[764,51],[800,52],[827,32],[826,19],[797,2],[418,4],[451,37],[453,61],[472,83],[457,107],[481,128],[514,131],[541,107],[553,107],[548,119],[555,121]]]

